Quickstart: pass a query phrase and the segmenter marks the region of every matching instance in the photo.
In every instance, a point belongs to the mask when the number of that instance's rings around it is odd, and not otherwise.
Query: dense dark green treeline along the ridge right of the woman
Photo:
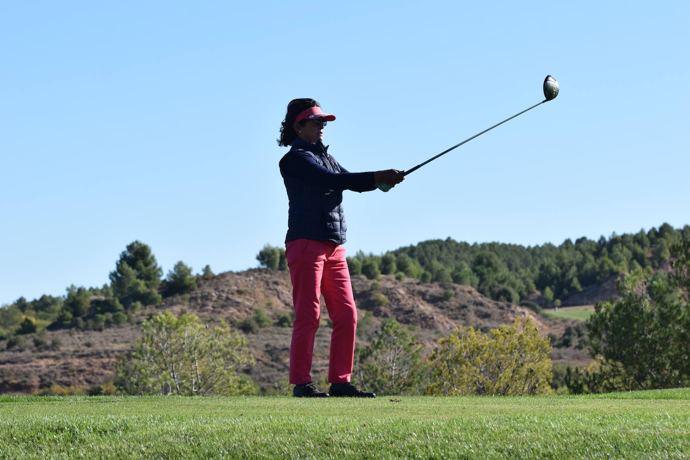
[[[451,238],[422,241],[382,255],[357,252],[348,257],[351,274],[376,279],[394,274],[423,282],[472,286],[486,297],[513,303],[540,292],[549,304],[563,301],[615,274],[657,270],[669,262],[673,244],[690,241],[690,226],[668,223],[634,234],[612,234],[597,241],[566,239],[560,246],[458,242]],[[287,270],[285,250],[265,246],[257,256],[264,267]],[[659,274],[658,276],[663,276]]]

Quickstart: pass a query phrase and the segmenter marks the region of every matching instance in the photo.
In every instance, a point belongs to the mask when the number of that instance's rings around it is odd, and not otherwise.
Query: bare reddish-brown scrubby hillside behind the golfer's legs
[[[380,281],[370,281],[355,275],[353,290],[359,312],[359,346],[371,340],[382,319],[386,318],[395,318],[413,327],[426,352],[431,350],[436,339],[461,325],[486,331],[512,323],[517,316],[527,315],[533,318],[542,334],[561,337],[566,326],[575,323],[542,317],[454,283],[422,283],[411,278],[398,281],[386,275]],[[375,296],[377,293],[385,296],[388,303],[383,305],[381,297]],[[264,269],[225,272],[204,281],[197,290],[190,292],[188,301],[185,296],[169,297],[157,308],[139,312],[132,323],[102,331],[72,328],[26,334],[22,336],[23,344],[9,349],[6,349],[7,340],[0,341],[0,392],[32,393],[53,383],[89,386],[112,380],[115,359],[139,337],[141,321],[158,311],[186,310],[204,321],[224,319],[235,325],[253,315],[259,306],[263,306],[274,321],[292,312],[288,272]],[[315,379],[323,375],[328,366],[330,327],[323,305],[321,323],[315,342]],[[248,346],[256,358],[248,374],[264,390],[287,375],[291,332],[290,327],[274,324],[247,334]],[[584,350],[575,348],[554,348],[552,358],[555,362],[572,364],[589,361]]]

